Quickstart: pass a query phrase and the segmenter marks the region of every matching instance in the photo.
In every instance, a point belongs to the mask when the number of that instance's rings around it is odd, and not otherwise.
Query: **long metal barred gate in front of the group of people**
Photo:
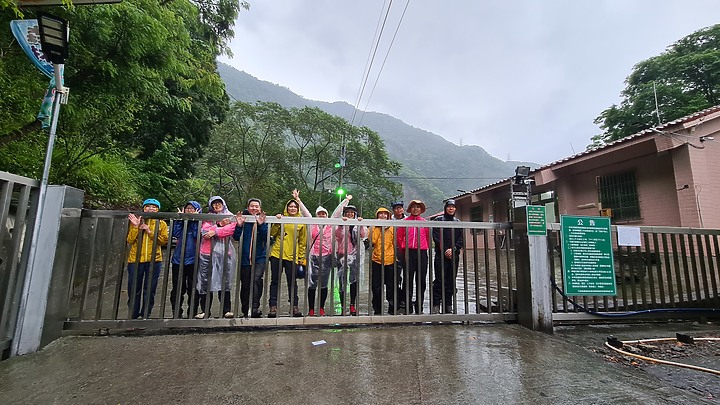
[[[227,217],[213,214],[143,213],[142,215],[146,220],[165,221],[168,224],[170,233],[177,224],[181,235],[192,228],[192,224],[200,224],[201,227],[202,221],[215,222],[219,218]],[[319,259],[316,262],[323,262],[322,259],[326,259],[327,261],[324,263],[329,263],[329,266],[325,265],[324,267],[330,267],[327,273],[324,273],[323,268],[320,268],[321,275],[327,274],[328,279],[327,303],[323,308],[326,316],[319,316],[322,281],[315,280],[314,286],[316,288],[310,288],[313,287],[311,279],[314,274],[310,269],[312,267],[310,265],[312,257],[306,257],[306,262],[303,262],[299,257],[298,246],[294,246],[292,252],[280,252],[279,254],[280,257],[283,257],[286,253],[290,254],[291,259],[293,259],[289,260],[288,266],[291,276],[286,278],[282,277],[281,274],[281,277],[278,277],[278,315],[276,318],[268,318],[267,315],[270,311],[268,296],[273,287],[271,285],[273,266],[271,263],[265,266],[257,266],[258,263],[255,262],[254,255],[249,255],[253,258],[249,268],[242,263],[242,260],[238,260],[243,255],[248,256],[247,252],[243,251],[244,238],[248,237],[247,232],[241,235],[238,241],[233,240],[232,237],[223,239],[215,237],[211,239],[212,250],[220,252],[216,253],[219,255],[217,256],[218,262],[226,268],[218,273],[211,272],[210,277],[205,282],[208,283],[208,286],[211,285],[213,275],[217,274],[217,277],[222,278],[220,284],[223,287],[216,293],[212,308],[210,308],[210,302],[212,302],[213,297],[208,297],[205,300],[204,307],[198,307],[199,301],[201,301],[197,291],[197,287],[199,287],[198,273],[202,271],[198,268],[199,266],[186,265],[185,262],[173,266],[170,260],[172,253],[180,249],[180,253],[184,255],[188,246],[182,241],[176,244],[172,238],[170,238],[167,247],[162,246],[163,238],[162,235],[158,234],[157,230],[152,234],[141,235],[141,238],[147,241],[149,249],[153,252],[158,250],[162,252],[162,261],[157,262],[159,271],[155,280],[152,280],[154,278],[152,271],[149,272],[151,281],[157,282],[156,287],[153,286],[152,282],[136,283],[138,277],[141,277],[137,275],[140,272],[133,272],[132,282],[128,283],[130,277],[128,272],[128,252],[131,244],[126,240],[129,230],[127,216],[128,212],[83,210],[78,243],[74,244],[74,252],[67,253],[73,256],[73,266],[71,269],[72,281],[67,300],[66,330],[112,328],[119,325],[186,328],[426,321],[507,321],[514,320],[517,316],[514,296],[516,277],[511,265],[511,250],[509,250],[507,243],[498,242],[504,239],[504,235],[510,227],[508,223],[412,221],[412,228],[427,229],[429,233],[432,233],[433,229],[439,230],[440,228],[462,229],[465,249],[460,250],[459,255],[450,261],[450,266],[453,264],[458,266],[457,276],[451,280],[439,277],[440,273],[436,273],[436,270],[445,270],[447,264],[440,260],[440,268],[436,269],[436,254],[432,242],[430,242],[430,249],[427,252],[427,270],[419,272],[418,276],[412,278],[407,276],[407,263],[415,259],[422,263],[422,253],[419,250],[405,249],[403,251],[399,249],[396,237],[392,238],[393,250],[397,256],[403,256],[404,260],[393,260],[392,264],[379,266],[379,271],[376,267],[375,272],[373,272],[372,251],[375,246],[366,249],[361,241],[354,241],[357,249],[351,256],[354,256],[352,259],[355,260],[347,259],[350,255],[339,254],[341,251],[348,251],[348,243],[352,242],[349,242],[348,239],[336,237],[336,235],[339,235],[343,230],[348,230],[350,226],[366,227],[368,235],[372,235],[374,228],[378,230],[394,229],[397,232],[401,228],[401,224],[410,225],[408,224],[409,221],[364,219],[362,221],[345,222],[341,219],[303,217],[277,219],[268,217],[266,222],[270,231],[267,235],[264,238],[258,238],[257,234],[254,234],[256,236],[253,236],[251,243],[246,245],[250,246],[253,252],[256,252],[259,247],[265,246],[268,258],[273,243],[276,242],[276,239],[271,236],[274,233],[282,237],[281,235],[292,232],[295,226],[302,224],[304,226],[303,232],[305,232],[303,240],[306,252],[310,252],[313,245],[319,243],[317,238],[313,239],[313,227],[317,227],[321,234],[324,229],[330,228],[333,235],[330,254],[320,253],[319,257],[315,258]],[[233,221],[235,220],[234,217],[230,218]],[[247,223],[252,224],[255,221],[253,216],[246,216],[246,218]],[[159,229],[157,226],[155,228]],[[250,234],[253,233],[250,232]],[[422,232],[417,232],[414,235],[420,238],[419,235],[421,234]],[[199,239],[202,239],[202,234]],[[385,239],[382,237],[379,244],[384,242]],[[195,263],[200,263],[203,259],[199,253],[200,244],[200,240],[198,240],[195,245],[197,248]],[[502,246],[502,248],[490,249],[491,246],[494,247],[495,245]],[[150,255],[150,257],[154,258],[155,255]],[[228,260],[230,257],[234,257],[235,260]],[[136,263],[131,262],[130,265],[140,265],[137,257],[135,261]],[[355,276],[357,280],[357,298],[354,303],[351,296],[353,287],[350,286],[353,280],[349,277],[353,272],[351,269],[353,261],[360,263]],[[384,261],[384,256],[381,256],[380,261]],[[260,262],[260,260],[257,262]],[[402,262],[406,263],[404,269],[401,265]],[[151,268],[156,265],[154,260],[150,260],[148,264]],[[305,274],[300,278],[297,278],[300,270],[298,264],[304,264],[306,269]],[[254,318],[251,309],[242,304],[244,298],[242,285],[244,282],[251,284],[250,280],[254,275],[249,275],[250,273],[246,272],[253,271],[253,268],[259,269],[263,277],[259,289],[256,291],[249,288],[249,297],[245,299],[253,302],[257,298],[255,295],[261,295],[260,306],[257,310],[262,313],[262,317],[259,318]],[[173,282],[173,271],[178,279],[175,283]],[[174,300],[171,300],[173,288],[180,290],[182,282],[179,280],[185,278],[185,275],[191,275],[189,283],[194,284],[189,288],[188,296],[184,297],[181,302],[181,298],[178,296],[179,291],[176,291],[173,297]],[[388,277],[388,275],[391,275],[391,277]],[[373,280],[373,277],[376,280]],[[322,279],[322,277],[318,278]],[[378,278],[380,280],[377,280]],[[388,278],[391,281],[387,283],[388,285],[383,285]],[[412,288],[405,284],[409,279],[413,280]],[[421,280],[424,281],[424,285],[427,287],[424,293]],[[373,291],[373,281],[376,282],[376,285],[381,285],[375,291]],[[317,288],[317,283],[320,283],[321,288]],[[441,300],[444,303],[451,304],[449,308],[444,305],[440,306],[439,313],[433,313],[437,309],[435,307],[440,304],[436,299],[433,299],[433,283],[440,285]],[[456,288],[454,290],[443,288],[446,287],[444,283],[453,283]],[[293,316],[293,305],[289,300],[295,287],[298,289],[299,297],[297,309],[303,315],[302,317]],[[139,312],[135,303],[130,302],[128,299],[129,296],[135,296],[134,293],[137,292],[137,288],[144,289],[143,294],[141,294],[144,297],[140,304],[141,309],[144,309],[144,311]],[[391,297],[388,296],[389,290],[399,291],[399,293],[394,294],[395,296],[390,299]],[[447,290],[454,295],[452,300],[448,299],[449,297],[443,292]],[[152,291],[155,291],[154,305],[152,310],[149,311],[149,297],[153,296]],[[310,294],[316,297],[315,305],[312,308],[308,303]],[[376,296],[374,307],[373,295]],[[413,296],[415,296],[414,299]],[[419,300],[421,304],[411,305],[411,302],[418,301],[418,296],[421,297]],[[229,312],[232,312],[232,314],[225,317],[224,309],[221,310],[220,308],[228,297],[231,305]],[[380,306],[377,304],[378,301],[381,303]],[[403,302],[407,302],[407,304],[403,306]],[[353,308],[350,307],[351,304],[354,304]],[[133,309],[136,311],[133,311]],[[315,316],[308,316],[311,309],[314,311]],[[418,313],[418,310],[420,310],[420,313]],[[194,319],[193,315],[197,313],[206,315],[202,317],[203,319]],[[209,313],[212,316],[208,316]],[[135,315],[139,316],[136,317]]]

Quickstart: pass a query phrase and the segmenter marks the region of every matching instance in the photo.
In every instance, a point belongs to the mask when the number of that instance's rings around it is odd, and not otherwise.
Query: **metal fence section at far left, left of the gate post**
[[[0,352],[10,348],[25,264],[35,222],[40,182],[0,172]]]

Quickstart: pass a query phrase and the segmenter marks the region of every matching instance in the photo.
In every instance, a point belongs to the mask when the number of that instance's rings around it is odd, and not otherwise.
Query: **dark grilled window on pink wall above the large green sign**
[[[613,221],[640,219],[635,173],[597,177],[598,198],[603,209],[612,209]]]

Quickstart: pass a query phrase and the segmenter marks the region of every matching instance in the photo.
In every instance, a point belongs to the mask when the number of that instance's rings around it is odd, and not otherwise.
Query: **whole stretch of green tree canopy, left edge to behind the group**
[[[69,102],[61,107],[50,183],[84,190],[87,207],[115,209],[137,207],[146,196],[176,207],[213,194],[238,209],[251,196],[282,205],[294,188],[323,202],[336,198],[327,190],[340,182],[358,201],[401,195],[386,179],[400,165],[377,133],[318,109],[230,104],[216,60],[230,53],[233,24],[248,7],[124,0],[46,10],[71,27]],[[0,4],[0,24],[15,18],[13,7]],[[48,80],[11,35],[0,37],[0,50],[0,170],[40,178],[48,134],[36,115]],[[353,164],[339,172],[341,142]]]

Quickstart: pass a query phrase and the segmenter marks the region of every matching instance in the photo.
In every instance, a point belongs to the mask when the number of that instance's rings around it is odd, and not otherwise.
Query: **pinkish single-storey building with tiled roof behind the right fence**
[[[464,221],[508,221],[511,184],[560,215],[613,224],[720,228],[720,105],[454,196]],[[517,189],[517,187],[516,187]]]

